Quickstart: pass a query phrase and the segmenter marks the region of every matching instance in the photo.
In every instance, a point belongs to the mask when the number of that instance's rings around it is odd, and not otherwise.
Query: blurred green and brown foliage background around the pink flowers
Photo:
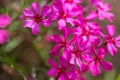
[[[10,31],[9,42],[0,45],[0,80],[54,80],[46,75],[50,65],[47,60],[49,51],[54,44],[45,41],[45,35],[57,33],[57,27],[44,28],[37,36],[31,34],[30,29],[23,28],[23,20],[20,19],[22,11],[30,7],[31,3],[38,1],[40,5],[49,4],[51,0],[0,0],[0,14],[7,13],[12,17],[12,23],[7,27]],[[115,13],[113,23],[117,26],[117,34],[120,34],[120,0],[104,0],[113,6]],[[84,0],[84,5],[88,4]],[[91,8],[92,9],[92,8]],[[108,20],[99,22],[105,31]],[[120,53],[106,57],[107,61],[114,64],[111,72],[104,72],[97,77],[88,73],[88,80],[120,80]],[[27,77],[27,78],[26,78]]]

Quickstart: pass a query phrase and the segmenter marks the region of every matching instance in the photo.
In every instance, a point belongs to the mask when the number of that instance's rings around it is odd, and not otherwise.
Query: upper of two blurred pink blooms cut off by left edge
[[[1,14],[0,15],[0,28],[5,28],[11,23],[12,19],[9,15]]]

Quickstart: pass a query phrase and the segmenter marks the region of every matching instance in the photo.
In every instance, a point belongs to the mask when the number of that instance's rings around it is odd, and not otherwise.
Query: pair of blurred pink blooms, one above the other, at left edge
[[[5,44],[9,38],[8,30],[4,29],[11,23],[11,17],[6,14],[0,15],[0,44]]]

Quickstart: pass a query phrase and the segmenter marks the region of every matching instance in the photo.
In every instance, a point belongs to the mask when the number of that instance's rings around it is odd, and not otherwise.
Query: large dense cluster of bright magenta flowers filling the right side
[[[54,0],[43,6],[40,12],[39,3],[34,2],[23,12],[24,27],[31,28],[34,35],[39,33],[40,24],[48,27],[53,21],[63,33],[47,37],[56,43],[50,54],[58,58],[58,64],[54,59],[48,60],[52,66],[48,75],[57,80],[86,80],[84,74],[91,71],[93,76],[97,76],[101,73],[100,66],[106,71],[112,70],[112,63],[103,58],[107,53],[114,56],[120,47],[120,35],[114,36],[116,27],[108,24],[108,34],[104,34],[96,22],[96,19],[103,21],[106,18],[113,21],[110,4],[103,0],[90,0],[95,10],[85,14],[82,3],[82,0]]]

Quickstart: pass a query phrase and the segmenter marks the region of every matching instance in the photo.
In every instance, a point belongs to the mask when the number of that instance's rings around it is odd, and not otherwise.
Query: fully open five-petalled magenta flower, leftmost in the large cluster
[[[40,13],[39,3],[32,3],[31,8],[26,8],[23,11],[26,18],[24,27],[31,28],[34,35],[38,34],[40,32],[40,23],[42,23],[45,27],[51,25],[51,20],[48,18],[50,12],[51,9],[49,6],[43,6]]]

